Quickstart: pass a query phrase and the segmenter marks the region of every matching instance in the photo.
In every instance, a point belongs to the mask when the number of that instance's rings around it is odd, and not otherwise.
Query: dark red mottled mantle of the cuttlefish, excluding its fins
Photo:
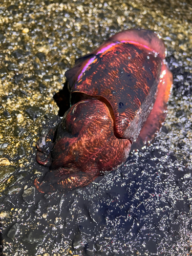
[[[101,96],[110,102],[115,135],[134,141],[155,101],[162,60],[142,46],[129,43],[118,44],[95,60],[71,91]]]

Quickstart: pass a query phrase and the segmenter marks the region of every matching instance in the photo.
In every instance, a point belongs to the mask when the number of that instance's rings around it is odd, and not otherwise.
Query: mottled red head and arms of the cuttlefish
[[[49,172],[44,183],[39,186],[36,181],[35,185],[44,192],[63,187],[70,190],[77,183],[85,186],[124,163],[130,149],[130,140],[118,139],[114,135],[113,119],[103,102],[80,101],[66,112],[58,126],[50,154],[50,169],[54,174]],[[53,186],[55,182],[56,187]]]

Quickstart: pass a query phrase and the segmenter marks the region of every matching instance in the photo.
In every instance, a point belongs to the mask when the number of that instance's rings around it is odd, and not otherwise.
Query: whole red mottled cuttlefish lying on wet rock
[[[74,105],[37,143],[37,161],[51,170],[35,180],[39,191],[89,184],[124,163],[138,135],[135,145],[159,130],[173,82],[164,53],[153,32],[128,30],[66,72]]]

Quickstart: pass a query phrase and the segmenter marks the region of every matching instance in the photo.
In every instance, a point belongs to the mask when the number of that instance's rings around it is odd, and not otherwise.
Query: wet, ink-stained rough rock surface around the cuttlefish
[[[191,13],[187,1],[2,3],[0,254],[191,254]],[[160,133],[85,188],[39,193],[34,179],[48,168],[35,144],[60,121],[53,95],[65,71],[130,28],[154,30],[167,47],[174,86]]]

